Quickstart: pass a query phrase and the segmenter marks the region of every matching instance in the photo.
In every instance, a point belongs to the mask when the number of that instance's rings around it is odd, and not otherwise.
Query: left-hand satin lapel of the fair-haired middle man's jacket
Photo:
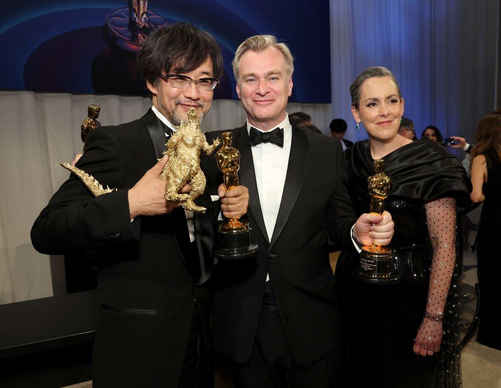
[[[235,132],[233,132],[233,146],[240,151],[240,169],[238,170],[238,178],[240,184],[247,187],[249,190],[248,210],[254,217],[254,220],[256,221],[256,224],[258,224],[258,227],[266,241],[270,242],[268,233],[266,232],[265,220],[263,219],[261,202],[259,201],[258,183],[256,183],[254,159],[252,157],[252,149],[250,148],[247,125],[237,128]]]

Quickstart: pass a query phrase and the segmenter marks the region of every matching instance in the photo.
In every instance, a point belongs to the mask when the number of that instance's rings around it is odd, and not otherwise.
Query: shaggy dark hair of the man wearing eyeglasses
[[[223,75],[222,54],[214,38],[189,23],[176,23],[158,29],[145,40],[137,54],[137,63],[143,79],[157,85],[158,74],[187,73],[195,70],[209,57],[213,78]]]

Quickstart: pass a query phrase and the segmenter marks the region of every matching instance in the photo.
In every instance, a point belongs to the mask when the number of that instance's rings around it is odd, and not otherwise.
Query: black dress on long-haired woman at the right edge
[[[501,300],[501,254],[497,240],[501,236],[501,161],[493,150],[484,154],[487,165],[487,182],[482,192],[485,201],[480,216],[477,240],[478,284],[480,286],[480,311],[476,340],[501,350],[499,330],[499,300]]]

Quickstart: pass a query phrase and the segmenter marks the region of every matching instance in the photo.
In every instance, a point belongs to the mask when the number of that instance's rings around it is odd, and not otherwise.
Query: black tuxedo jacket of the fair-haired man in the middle
[[[269,273],[295,360],[307,366],[341,344],[326,227],[329,221],[338,241],[351,244],[356,215],[347,190],[344,153],[339,140],[292,127],[284,193],[273,236],[268,239],[247,128],[229,131],[233,147],[240,151],[238,176],[249,190],[250,236],[259,251],[256,257],[219,260],[214,266],[215,348],[239,363],[249,359]],[[221,132],[207,133],[208,141]],[[222,173],[214,158],[202,161],[207,188],[215,190]]]

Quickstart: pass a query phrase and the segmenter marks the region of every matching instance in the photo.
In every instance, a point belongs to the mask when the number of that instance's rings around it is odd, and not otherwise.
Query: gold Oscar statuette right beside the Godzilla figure
[[[238,169],[240,168],[240,151],[231,146],[231,132],[221,135],[223,144],[216,152],[217,167],[223,173],[226,190],[238,186]],[[218,245],[212,251],[220,259],[242,259],[254,256],[258,251],[256,244],[250,244],[250,227],[246,220],[227,219],[219,223]]]

